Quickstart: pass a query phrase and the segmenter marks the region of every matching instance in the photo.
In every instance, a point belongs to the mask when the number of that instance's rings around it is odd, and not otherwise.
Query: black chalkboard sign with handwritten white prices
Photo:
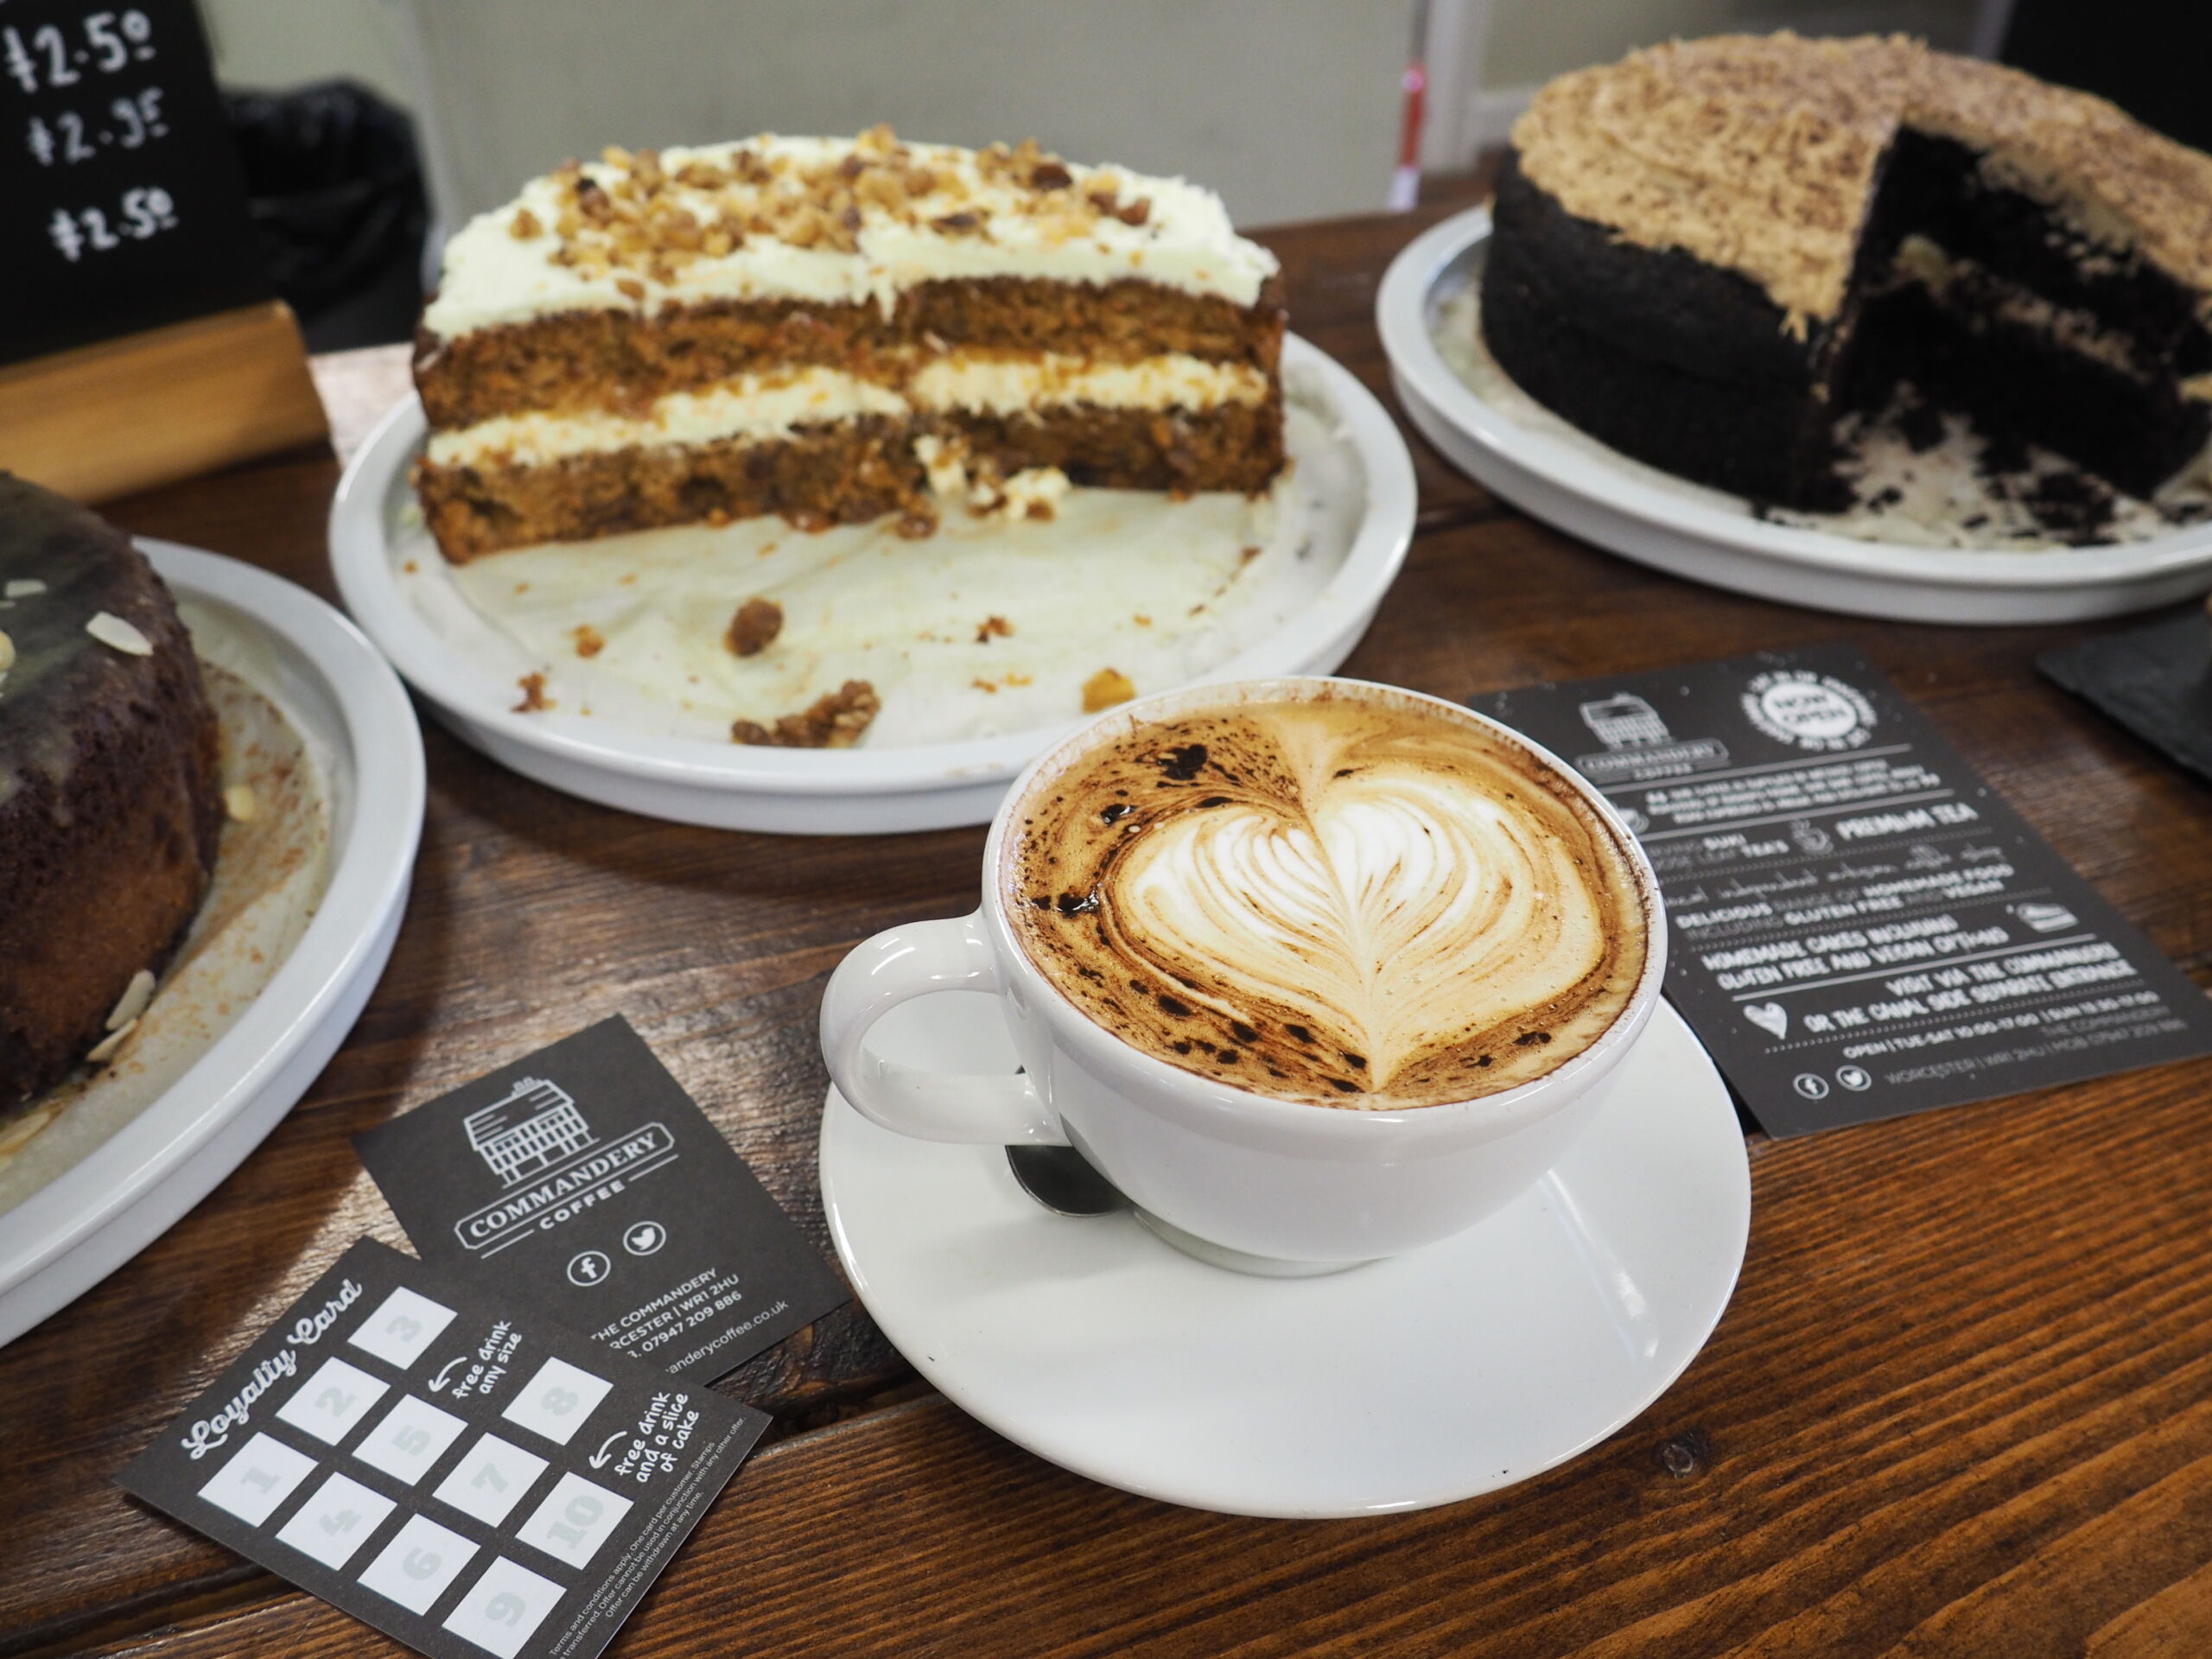
[[[192,0],[0,0],[0,363],[270,296]]]

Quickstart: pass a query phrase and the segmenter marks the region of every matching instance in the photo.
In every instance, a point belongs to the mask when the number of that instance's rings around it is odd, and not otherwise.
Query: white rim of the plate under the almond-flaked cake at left
[[[0,1214],[0,1343],[150,1245],[292,1110],[392,956],[422,834],[422,732],[398,677],[327,604],[250,564],[142,540],[186,608],[257,641],[250,679],[325,757],[330,887],[252,1006],[146,1110]]]

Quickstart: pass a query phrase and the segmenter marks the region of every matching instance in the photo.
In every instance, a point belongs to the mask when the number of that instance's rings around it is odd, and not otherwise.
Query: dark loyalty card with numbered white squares
[[[117,1480],[436,1659],[593,1659],[765,1427],[363,1239]]]

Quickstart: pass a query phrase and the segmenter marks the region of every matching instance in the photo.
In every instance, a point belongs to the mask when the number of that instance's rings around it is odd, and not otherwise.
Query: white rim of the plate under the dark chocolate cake
[[[1761,599],[1898,622],[2079,622],[2212,586],[2212,524],[2115,546],[1933,549],[1865,542],[1752,515],[1750,502],[1630,460],[1548,411],[1522,418],[1436,347],[1438,310],[1475,281],[1489,208],[1416,237],[1383,276],[1376,330],[1407,416],[1515,507],[1621,557]]]

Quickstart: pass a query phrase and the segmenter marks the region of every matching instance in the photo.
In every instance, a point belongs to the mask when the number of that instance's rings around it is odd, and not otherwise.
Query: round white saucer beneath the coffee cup
[[[889,1057],[1013,1071],[998,1004],[918,998]],[[867,1312],[1009,1440],[1110,1486],[1239,1515],[1374,1515],[1509,1486],[1681,1376],[1728,1305],[1750,1166],[1670,1006],[1619,1093],[1471,1232],[1325,1279],[1208,1267],[1128,1212],[1029,1199],[995,1146],[905,1139],[832,1088],[823,1203]]]

